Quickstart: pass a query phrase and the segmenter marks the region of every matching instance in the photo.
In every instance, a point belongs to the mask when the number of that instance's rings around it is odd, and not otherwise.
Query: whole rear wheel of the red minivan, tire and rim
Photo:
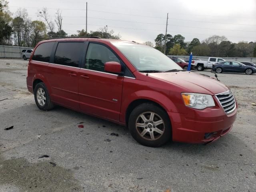
[[[44,83],[40,82],[36,84],[34,88],[34,98],[40,110],[46,111],[54,108],[54,104],[51,101],[50,94]]]

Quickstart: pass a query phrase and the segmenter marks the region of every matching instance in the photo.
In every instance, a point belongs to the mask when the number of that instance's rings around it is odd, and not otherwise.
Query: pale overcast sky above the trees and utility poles
[[[224,35],[232,42],[256,41],[256,0],[88,0],[88,28],[108,25],[123,40],[151,41],[168,33],[191,41]],[[10,11],[26,8],[31,20],[42,7],[54,16],[62,10],[63,29],[70,34],[85,29],[86,0],[9,0]],[[54,17],[52,17],[54,20]],[[57,30],[57,26],[56,26]]]

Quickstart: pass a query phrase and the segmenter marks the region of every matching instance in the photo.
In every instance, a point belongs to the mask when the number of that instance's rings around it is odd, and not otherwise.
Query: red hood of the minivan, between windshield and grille
[[[229,90],[221,82],[194,72],[149,73],[148,76],[181,86],[185,92],[215,95]]]

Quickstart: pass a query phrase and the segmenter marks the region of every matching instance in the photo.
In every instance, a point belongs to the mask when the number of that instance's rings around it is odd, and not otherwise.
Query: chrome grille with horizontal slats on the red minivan
[[[232,113],[236,108],[236,101],[231,90],[215,95],[226,114]]]

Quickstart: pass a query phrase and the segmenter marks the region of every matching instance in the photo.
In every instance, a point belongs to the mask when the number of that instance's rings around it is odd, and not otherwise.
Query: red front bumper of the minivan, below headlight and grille
[[[168,112],[172,123],[172,140],[186,143],[208,143],[227,134],[236,120],[237,105],[234,112],[225,114],[222,108],[198,111],[198,117],[189,118],[185,114]],[[221,110],[221,111],[220,111]],[[207,118],[208,116],[208,118]],[[211,134],[209,134],[211,133]],[[206,137],[206,135],[210,135]]]

